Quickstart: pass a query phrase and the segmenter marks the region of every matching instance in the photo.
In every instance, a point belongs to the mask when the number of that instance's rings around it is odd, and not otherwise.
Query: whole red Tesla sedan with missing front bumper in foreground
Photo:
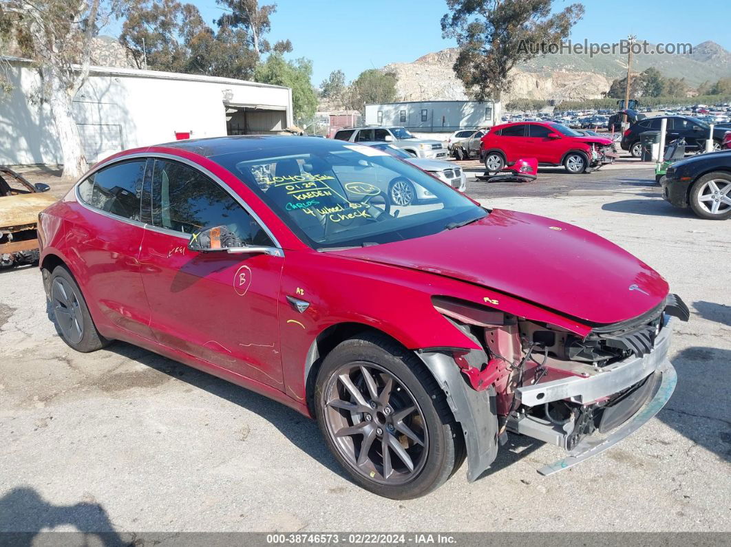
[[[424,199],[390,202],[397,183]],[[418,497],[507,432],[553,473],[675,386],[647,264],[586,230],[485,209],[374,148],[222,137],[118,153],[39,218],[58,333],[124,340],[317,419],[353,480]],[[607,433],[602,443],[599,433]]]

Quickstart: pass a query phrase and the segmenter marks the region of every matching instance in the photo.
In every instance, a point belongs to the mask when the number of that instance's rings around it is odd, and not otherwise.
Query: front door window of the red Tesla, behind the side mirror
[[[177,161],[155,160],[152,223],[183,234],[226,226],[240,244],[273,245],[257,221],[218,183]]]

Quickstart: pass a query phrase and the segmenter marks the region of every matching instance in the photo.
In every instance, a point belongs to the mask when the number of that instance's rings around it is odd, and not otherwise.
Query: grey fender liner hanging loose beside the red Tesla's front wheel
[[[417,356],[436,378],[455,420],[462,428],[467,448],[467,480],[474,481],[490,467],[498,451],[495,389],[493,386],[482,391],[472,389],[452,356],[447,353],[417,351]],[[478,359],[485,362],[487,356],[482,351],[472,350],[465,358],[468,361]]]

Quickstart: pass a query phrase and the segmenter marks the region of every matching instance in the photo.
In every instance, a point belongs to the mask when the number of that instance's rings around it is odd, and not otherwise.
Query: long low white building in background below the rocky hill
[[[402,126],[412,133],[452,133],[500,123],[492,101],[412,101],[366,104],[366,125]]]

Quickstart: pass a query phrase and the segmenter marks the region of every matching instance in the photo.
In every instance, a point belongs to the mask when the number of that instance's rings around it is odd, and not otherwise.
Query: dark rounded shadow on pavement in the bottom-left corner
[[[77,529],[81,532],[80,535],[67,537],[65,540],[57,538],[59,543],[67,541],[69,545],[101,543],[110,547],[129,545],[129,542],[122,540],[115,532],[105,508],[94,501],[83,501],[74,505],[53,505],[28,486],[12,489],[0,497],[2,545],[30,547],[37,543],[36,536],[42,530],[68,526]]]

